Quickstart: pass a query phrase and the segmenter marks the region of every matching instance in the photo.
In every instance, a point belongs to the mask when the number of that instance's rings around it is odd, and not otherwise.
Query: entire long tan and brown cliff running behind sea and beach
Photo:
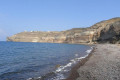
[[[112,18],[88,28],[73,28],[66,31],[21,32],[7,38],[15,42],[49,43],[120,43],[120,18]]]

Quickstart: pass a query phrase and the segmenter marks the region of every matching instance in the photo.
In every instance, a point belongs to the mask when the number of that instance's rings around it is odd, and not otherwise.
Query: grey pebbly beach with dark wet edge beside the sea
[[[120,80],[120,45],[96,44],[66,80]]]

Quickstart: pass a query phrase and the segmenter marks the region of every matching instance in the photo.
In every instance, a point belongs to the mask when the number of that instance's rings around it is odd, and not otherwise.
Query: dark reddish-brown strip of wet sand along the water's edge
[[[69,76],[64,80],[76,80],[79,77],[77,70],[89,60],[89,58],[93,55],[94,50],[95,47],[93,47],[92,51],[88,54],[87,57],[81,59],[75,66],[73,66]]]

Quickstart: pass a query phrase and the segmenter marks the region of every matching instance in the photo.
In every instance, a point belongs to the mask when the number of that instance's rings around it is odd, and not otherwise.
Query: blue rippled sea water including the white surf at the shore
[[[60,80],[90,48],[78,44],[0,42],[0,80]]]

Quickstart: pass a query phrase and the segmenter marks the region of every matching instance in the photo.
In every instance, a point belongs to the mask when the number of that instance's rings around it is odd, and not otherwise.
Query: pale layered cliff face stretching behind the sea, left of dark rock
[[[71,29],[61,32],[21,32],[7,38],[15,42],[89,43],[90,31]]]

